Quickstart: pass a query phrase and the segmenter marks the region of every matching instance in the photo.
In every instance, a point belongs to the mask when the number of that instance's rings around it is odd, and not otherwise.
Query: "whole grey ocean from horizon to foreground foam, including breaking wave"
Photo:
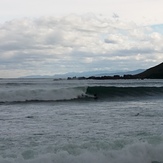
[[[163,80],[0,80],[0,163],[163,162]]]

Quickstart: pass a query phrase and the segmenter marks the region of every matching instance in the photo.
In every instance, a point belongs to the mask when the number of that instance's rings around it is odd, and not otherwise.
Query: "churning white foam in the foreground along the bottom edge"
[[[80,154],[69,154],[67,151],[48,153],[25,159],[0,158],[0,163],[151,163],[163,162],[163,144],[152,146],[148,143],[137,143],[121,150],[81,150]]]

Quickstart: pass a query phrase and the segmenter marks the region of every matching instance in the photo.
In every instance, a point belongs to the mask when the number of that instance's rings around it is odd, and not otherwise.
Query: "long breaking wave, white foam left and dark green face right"
[[[61,89],[33,88],[0,91],[0,103],[46,102],[94,99],[128,99],[163,96],[163,87],[88,86]]]

